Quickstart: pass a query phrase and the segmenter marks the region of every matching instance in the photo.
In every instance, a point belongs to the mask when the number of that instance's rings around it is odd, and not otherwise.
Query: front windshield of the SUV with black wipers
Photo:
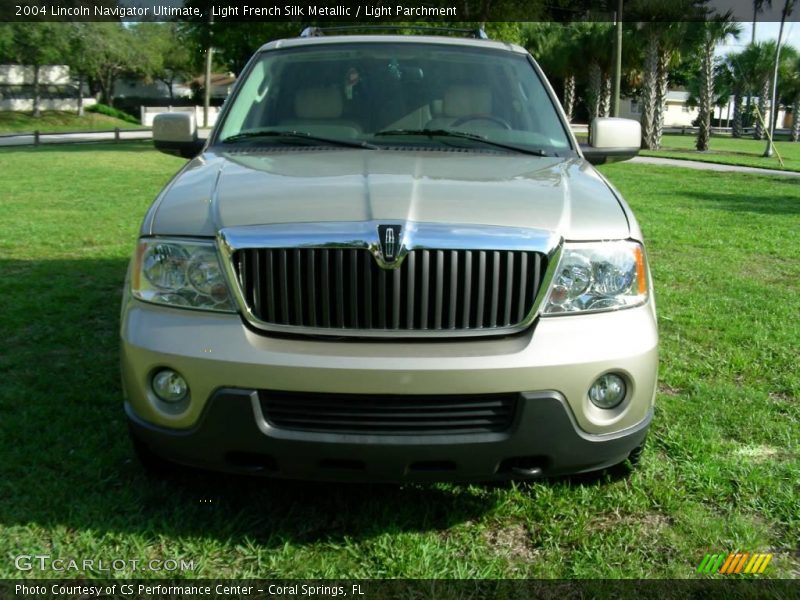
[[[456,146],[540,155],[570,149],[553,103],[524,55],[385,42],[262,53],[217,141],[365,149]]]

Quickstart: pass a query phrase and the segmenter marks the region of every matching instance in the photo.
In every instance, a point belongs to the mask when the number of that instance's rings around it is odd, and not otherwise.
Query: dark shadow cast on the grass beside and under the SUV
[[[134,458],[122,410],[117,346],[125,270],[124,259],[0,260],[4,525],[253,540],[276,548],[444,530],[480,518],[506,493],[502,485],[149,475]],[[608,477],[572,482],[596,485]],[[548,483],[527,487],[536,485]]]

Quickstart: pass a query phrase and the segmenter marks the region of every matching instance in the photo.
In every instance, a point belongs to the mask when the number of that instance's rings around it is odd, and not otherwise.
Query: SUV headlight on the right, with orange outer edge
[[[646,299],[647,269],[641,244],[565,244],[544,314],[614,310]]]

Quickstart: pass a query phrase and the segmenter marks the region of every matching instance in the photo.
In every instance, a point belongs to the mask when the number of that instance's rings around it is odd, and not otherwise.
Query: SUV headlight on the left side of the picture
[[[139,240],[132,292],[157,304],[234,311],[213,242]]]

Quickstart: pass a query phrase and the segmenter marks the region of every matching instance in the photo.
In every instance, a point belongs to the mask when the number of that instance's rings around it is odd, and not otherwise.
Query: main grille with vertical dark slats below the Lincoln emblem
[[[545,271],[542,254],[519,250],[415,249],[393,269],[363,248],[245,248],[232,258],[258,320],[333,330],[514,327]]]

